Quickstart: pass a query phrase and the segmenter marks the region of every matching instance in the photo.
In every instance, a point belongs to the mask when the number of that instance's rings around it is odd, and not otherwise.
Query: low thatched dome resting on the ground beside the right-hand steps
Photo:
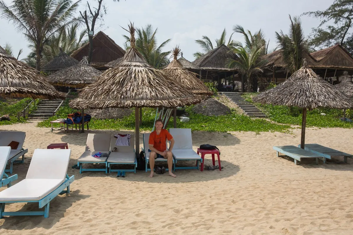
[[[226,115],[231,112],[228,106],[213,98],[204,100],[201,103],[195,105],[192,108],[192,111],[206,116]]]

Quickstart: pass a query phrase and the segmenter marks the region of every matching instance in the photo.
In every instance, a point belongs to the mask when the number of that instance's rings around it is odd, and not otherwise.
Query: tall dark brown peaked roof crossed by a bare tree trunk
[[[99,31],[93,37],[93,50],[94,53],[90,64],[99,70],[107,69],[104,64],[122,58],[125,55],[125,50],[102,31]],[[84,56],[88,55],[88,51],[89,42],[72,52],[71,56],[80,61]]]

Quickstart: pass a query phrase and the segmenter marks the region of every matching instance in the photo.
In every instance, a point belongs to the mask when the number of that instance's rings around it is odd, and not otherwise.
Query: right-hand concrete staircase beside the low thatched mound
[[[250,117],[258,117],[265,118],[266,115],[257,109],[255,105],[245,101],[243,97],[241,97],[241,93],[237,92],[222,92],[223,95],[228,97],[228,99],[232,100],[243,112]]]

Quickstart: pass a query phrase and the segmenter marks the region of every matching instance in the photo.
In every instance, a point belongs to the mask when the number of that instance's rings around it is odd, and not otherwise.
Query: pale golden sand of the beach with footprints
[[[68,197],[50,202],[49,218],[4,217],[1,234],[353,234],[353,160],[337,157],[328,164],[276,157],[276,145],[300,143],[293,134],[261,132],[193,132],[194,150],[214,144],[221,150],[222,171],[178,170],[148,178],[149,173],[84,172],[71,166],[85,148],[88,133],[133,131],[91,130],[84,134],[50,132],[36,123],[1,126],[0,131],[25,131],[24,164],[14,165],[24,179],[34,149],[68,143],[69,175],[75,175]],[[353,153],[353,131],[307,128],[306,143],[319,143]],[[142,135],[140,136],[142,143]],[[211,165],[207,155],[206,165]],[[0,191],[6,187],[2,187]],[[6,205],[5,210],[37,209],[35,203]]]

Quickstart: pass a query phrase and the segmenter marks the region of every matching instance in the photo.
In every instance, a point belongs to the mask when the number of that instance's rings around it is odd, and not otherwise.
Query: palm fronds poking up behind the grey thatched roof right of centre
[[[217,38],[215,39],[216,47],[219,47],[222,44],[227,45],[227,47],[234,46],[234,41],[232,40],[233,33],[229,37],[227,44],[226,44],[226,36],[227,36],[227,32],[226,32],[226,28],[225,28],[221,34],[221,37],[219,39],[217,39]],[[195,42],[200,45],[200,47],[203,51],[203,52],[199,52],[199,51],[195,52],[193,54],[193,56],[196,58],[199,58],[199,57],[203,56],[204,54],[206,54],[207,52],[214,49],[211,39],[207,36],[202,36],[202,39],[197,39],[197,40],[195,40]]]

